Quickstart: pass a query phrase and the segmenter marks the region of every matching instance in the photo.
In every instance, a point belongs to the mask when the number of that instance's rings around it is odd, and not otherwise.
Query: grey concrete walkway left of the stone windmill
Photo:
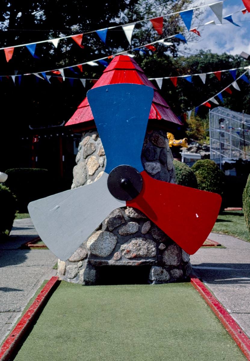
[[[0,343],[43,280],[56,274],[48,249],[18,249],[37,236],[30,218],[17,219],[8,242],[0,242]]]

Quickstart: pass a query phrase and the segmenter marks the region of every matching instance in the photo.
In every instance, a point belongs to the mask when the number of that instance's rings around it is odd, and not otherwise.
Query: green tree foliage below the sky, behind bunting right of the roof
[[[149,78],[158,77],[175,77],[186,74],[200,74],[209,71],[217,71],[223,69],[239,68],[248,66],[249,62],[240,56],[233,56],[227,53],[221,55],[211,53],[211,51],[200,50],[195,55],[172,57],[168,54],[159,57],[155,52],[151,57],[144,57],[141,62],[142,68],[145,70]],[[236,77],[240,76],[243,70],[237,70]],[[189,109],[203,104],[210,97],[220,92],[233,82],[232,75],[228,72],[221,73],[221,81],[214,74],[207,75],[206,83],[203,84],[199,76],[192,78],[192,83],[184,78],[178,78],[177,87],[174,87],[170,79],[163,80],[161,95],[167,100],[174,113],[181,115]],[[154,82],[154,81],[153,81]],[[156,85],[156,82],[154,82]],[[250,86],[243,80],[239,80],[238,84],[241,91],[237,91],[233,87],[232,94],[223,92],[224,103],[221,104],[226,108],[250,114]],[[156,85],[157,87],[157,85]],[[212,103],[212,108],[216,106]],[[207,118],[207,106],[201,106],[198,116],[202,119]]]

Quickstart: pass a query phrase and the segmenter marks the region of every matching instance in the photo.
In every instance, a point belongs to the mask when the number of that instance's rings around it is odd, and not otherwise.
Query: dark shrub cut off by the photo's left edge
[[[0,184],[0,239],[5,234],[9,234],[12,229],[13,221],[16,213],[16,198],[8,187]]]

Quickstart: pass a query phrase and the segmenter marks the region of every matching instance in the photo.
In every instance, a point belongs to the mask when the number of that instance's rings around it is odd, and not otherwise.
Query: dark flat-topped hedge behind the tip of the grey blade
[[[40,168],[13,168],[5,171],[8,179],[5,185],[16,195],[17,209],[27,212],[27,205],[36,199],[50,195],[49,172]]]

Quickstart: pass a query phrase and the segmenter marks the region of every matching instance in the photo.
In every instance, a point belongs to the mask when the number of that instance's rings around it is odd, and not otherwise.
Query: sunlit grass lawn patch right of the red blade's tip
[[[224,211],[219,214],[212,232],[228,234],[250,242],[250,234],[247,231],[242,210]]]

